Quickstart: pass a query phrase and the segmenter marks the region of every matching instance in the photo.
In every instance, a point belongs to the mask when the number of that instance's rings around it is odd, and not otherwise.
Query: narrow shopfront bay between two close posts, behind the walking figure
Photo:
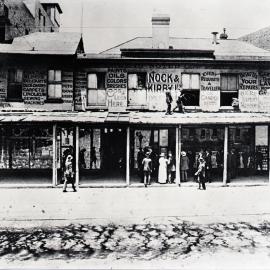
[[[70,154],[73,157],[73,171],[75,172],[75,128],[57,127],[57,184],[63,183],[65,159]]]

